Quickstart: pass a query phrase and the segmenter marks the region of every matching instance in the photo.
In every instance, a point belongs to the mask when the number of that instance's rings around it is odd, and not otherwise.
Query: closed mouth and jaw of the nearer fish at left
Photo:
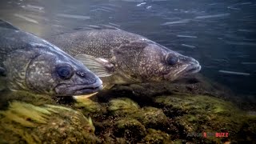
[[[93,94],[102,90],[102,80],[98,80],[93,84],[79,84],[79,85],[66,85],[61,84],[55,87],[55,92],[57,96],[73,96],[73,95],[84,95],[84,94]]]

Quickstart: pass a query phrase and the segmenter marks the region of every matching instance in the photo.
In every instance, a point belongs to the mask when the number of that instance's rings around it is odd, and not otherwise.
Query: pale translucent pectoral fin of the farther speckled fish
[[[82,62],[83,65],[100,78],[114,74],[114,65],[104,58],[95,58],[87,54],[78,54],[74,58]]]

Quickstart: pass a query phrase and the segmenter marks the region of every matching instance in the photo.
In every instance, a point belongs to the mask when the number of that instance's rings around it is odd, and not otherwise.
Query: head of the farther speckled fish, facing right
[[[201,70],[197,60],[178,54],[157,43],[146,46],[138,58],[138,74],[143,81],[174,81]]]

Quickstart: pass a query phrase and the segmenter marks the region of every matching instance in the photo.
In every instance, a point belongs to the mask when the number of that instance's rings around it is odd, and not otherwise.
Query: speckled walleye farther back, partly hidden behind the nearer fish
[[[59,34],[49,39],[97,74],[103,85],[173,81],[201,70],[194,58],[138,34],[106,29]]]

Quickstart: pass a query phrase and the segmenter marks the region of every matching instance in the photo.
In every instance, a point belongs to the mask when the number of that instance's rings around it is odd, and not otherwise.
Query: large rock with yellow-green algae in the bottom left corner
[[[96,143],[90,118],[63,106],[11,102],[0,111],[0,139],[8,143]]]

